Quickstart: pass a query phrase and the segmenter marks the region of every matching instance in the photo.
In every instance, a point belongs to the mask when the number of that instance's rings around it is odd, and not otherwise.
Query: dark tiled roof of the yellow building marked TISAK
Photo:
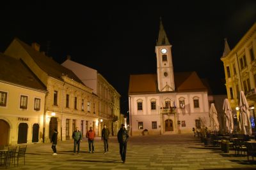
[[[46,91],[44,84],[36,78],[22,60],[0,53],[0,68],[0,80]]]

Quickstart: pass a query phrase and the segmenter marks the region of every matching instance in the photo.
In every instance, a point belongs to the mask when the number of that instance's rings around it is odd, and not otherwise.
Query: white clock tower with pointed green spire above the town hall
[[[159,92],[172,92],[175,90],[172,45],[169,43],[160,18],[159,34],[156,43],[157,83]]]

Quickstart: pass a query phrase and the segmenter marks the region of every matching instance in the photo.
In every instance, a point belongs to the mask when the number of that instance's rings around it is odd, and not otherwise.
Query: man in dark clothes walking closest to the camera
[[[120,146],[120,155],[123,160],[123,163],[125,163],[125,156],[126,156],[126,148],[127,148],[127,141],[129,138],[128,131],[125,129],[125,125],[121,125],[121,129],[117,133],[118,143]]]

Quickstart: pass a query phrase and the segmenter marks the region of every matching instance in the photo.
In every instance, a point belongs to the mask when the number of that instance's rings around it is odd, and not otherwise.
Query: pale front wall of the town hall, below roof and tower
[[[180,134],[192,132],[196,127],[195,120],[201,121],[201,126],[209,126],[209,106],[207,92],[187,92],[168,94],[130,95],[129,106],[131,111],[132,135],[142,135],[147,129],[148,134]],[[199,108],[194,107],[194,99],[199,100]],[[156,101],[156,110],[151,109],[151,101]],[[163,109],[165,101],[177,103],[176,113],[168,114],[169,108]],[[180,108],[179,101],[184,100],[184,108]],[[142,101],[143,110],[138,110],[138,101]],[[162,108],[162,109],[161,109]],[[172,120],[173,131],[166,131],[166,120]],[[182,121],[185,124],[182,125]],[[139,129],[139,123],[143,122],[143,128]],[[153,129],[152,122],[157,122],[157,129]]]

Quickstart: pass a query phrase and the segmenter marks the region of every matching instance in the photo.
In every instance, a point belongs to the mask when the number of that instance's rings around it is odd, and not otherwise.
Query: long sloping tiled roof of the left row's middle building
[[[67,69],[64,66],[61,66],[58,62],[54,61],[50,57],[47,57],[42,52],[38,52],[35,49],[33,49],[31,46],[27,45],[23,41],[20,41],[20,39],[15,38],[20,45],[26,50],[26,52],[29,53],[29,55],[35,60],[36,64],[45,71],[45,73],[49,74],[49,76],[52,76],[54,78],[60,79],[61,76],[67,75],[68,78],[72,78],[73,80],[82,83],[83,82],[77,78],[76,74],[74,74],[70,69]]]

